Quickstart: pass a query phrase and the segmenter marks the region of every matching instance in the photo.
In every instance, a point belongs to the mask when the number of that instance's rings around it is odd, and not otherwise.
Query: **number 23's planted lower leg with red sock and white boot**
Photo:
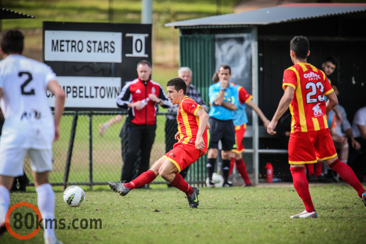
[[[295,190],[305,205],[305,210],[303,212],[298,215],[291,216],[290,218],[318,217],[310,196],[309,183],[306,175],[304,174],[304,166],[304,164],[290,164],[290,171],[292,174]]]

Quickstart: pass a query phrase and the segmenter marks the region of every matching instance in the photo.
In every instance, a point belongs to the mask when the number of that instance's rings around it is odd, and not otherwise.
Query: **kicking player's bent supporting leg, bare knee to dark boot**
[[[179,170],[177,169],[177,166],[175,166],[175,164],[173,164],[169,160],[166,160],[160,168],[159,174],[160,176],[162,176],[163,179],[170,182],[173,187],[186,193],[186,198],[188,199],[190,208],[197,208],[197,206],[199,205],[197,197],[197,195],[199,195],[199,190],[196,187],[191,187],[190,185],[188,185],[187,181],[185,181],[184,178],[179,174]]]

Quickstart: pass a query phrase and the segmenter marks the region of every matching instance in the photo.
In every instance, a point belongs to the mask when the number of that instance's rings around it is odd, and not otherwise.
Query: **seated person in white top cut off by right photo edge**
[[[358,109],[354,115],[352,133],[361,148],[357,150],[356,146],[350,146],[348,164],[356,173],[357,178],[363,180],[366,173],[366,106]]]

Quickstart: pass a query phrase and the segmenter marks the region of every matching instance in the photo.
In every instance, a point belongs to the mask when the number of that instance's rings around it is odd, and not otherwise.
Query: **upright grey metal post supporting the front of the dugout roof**
[[[253,102],[258,105],[258,33],[257,26],[252,27],[252,94]],[[254,185],[258,185],[259,175],[259,133],[258,133],[258,115],[253,110],[253,168],[254,168]]]

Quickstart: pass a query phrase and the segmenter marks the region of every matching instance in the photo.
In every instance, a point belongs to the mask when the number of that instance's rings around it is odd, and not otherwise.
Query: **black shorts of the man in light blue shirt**
[[[221,140],[223,150],[230,151],[234,149],[235,145],[235,128],[233,121],[220,120],[216,118],[209,118],[210,123],[210,140],[208,148],[219,148],[219,141]]]

